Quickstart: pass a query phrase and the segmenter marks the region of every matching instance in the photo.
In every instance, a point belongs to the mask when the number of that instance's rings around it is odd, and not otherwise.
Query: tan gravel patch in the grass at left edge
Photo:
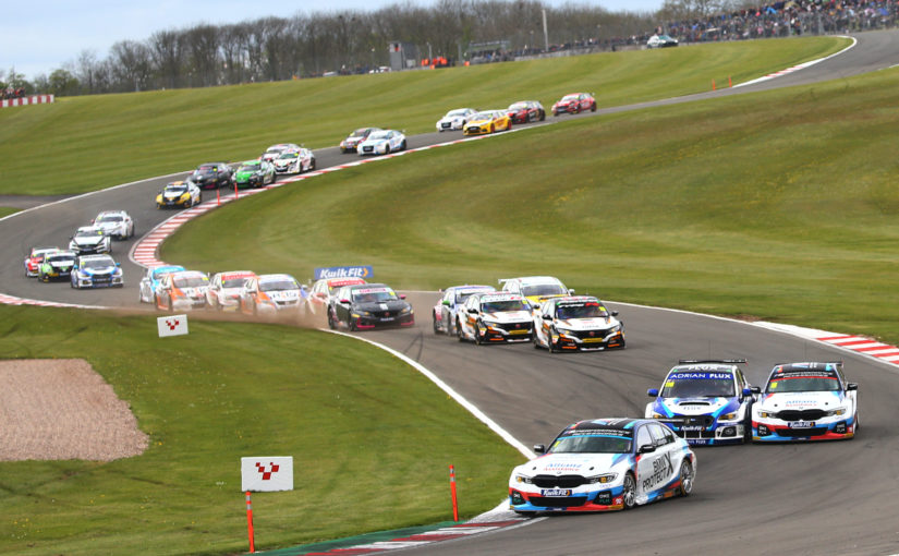
[[[86,361],[0,361],[0,461],[111,461],[147,444],[127,403]]]

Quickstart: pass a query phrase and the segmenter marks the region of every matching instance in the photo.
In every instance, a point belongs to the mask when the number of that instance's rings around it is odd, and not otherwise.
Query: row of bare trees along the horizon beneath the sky
[[[121,40],[106,58],[83,50],[49,75],[26,80],[0,71],[0,88],[59,96],[209,87],[366,73],[390,64],[388,45],[411,46],[406,56],[470,59],[479,46],[539,52],[571,45],[612,45],[652,33],[666,16],[705,15],[752,2],[666,0],[658,12],[610,12],[598,5],[539,0],[405,0],[376,11],[341,10],[260,17],[234,24],[197,24],[153,33],[145,40]]]

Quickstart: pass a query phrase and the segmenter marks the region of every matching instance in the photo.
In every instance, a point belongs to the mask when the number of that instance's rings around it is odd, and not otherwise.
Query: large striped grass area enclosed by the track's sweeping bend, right
[[[416,289],[552,274],[899,342],[897,86],[890,70],[416,153],[228,206],[162,256],[299,277],[370,264]]]

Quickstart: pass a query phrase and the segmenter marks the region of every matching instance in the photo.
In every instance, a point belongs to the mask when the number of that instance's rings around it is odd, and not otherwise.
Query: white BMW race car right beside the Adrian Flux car
[[[753,442],[836,440],[859,432],[859,385],[842,362],[776,365],[752,408]]]

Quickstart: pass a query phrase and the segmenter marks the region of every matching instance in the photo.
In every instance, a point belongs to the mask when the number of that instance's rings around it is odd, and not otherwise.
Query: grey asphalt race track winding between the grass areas
[[[899,63],[899,33],[857,38],[859,44],[843,55],[775,80],[598,113],[809,84]],[[432,133],[409,143],[414,148],[460,135]],[[316,156],[319,168],[355,158],[340,155],[337,147]],[[129,210],[139,237],[171,215],[156,210],[153,197],[172,179],[146,180],[0,221],[5,239],[0,246],[0,290],[22,298],[136,306],[141,268],[126,257],[130,241],[113,245],[125,273],[121,290],[75,291],[64,283],[39,283],[25,278],[22,258],[33,245],[64,246],[74,229],[101,209]],[[207,202],[210,197],[215,202],[214,192],[206,193]],[[409,298],[416,310],[415,328],[364,336],[420,361],[529,446],[548,443],[563,425],[580,419],[642,415],[646,389],[659,386],[680,358],[744,356],[748,376],[756,385],[764,384],[775,363],[842,360],[849,379],[860,385],[860,431],[849,442],[700,448],[689,498],[629,512],[550,516],[403,554],[899,553],[899,496],[892,492],[899,481],[899,411],[892,394],[899,391],[899,367],[745,323],[616,303],[609,305],[627,324],[627,350],[550,354],[531,345],[476,347],[433,334],[430,309],[437,294]],[[458,470],[460,480],[464,472]]]

